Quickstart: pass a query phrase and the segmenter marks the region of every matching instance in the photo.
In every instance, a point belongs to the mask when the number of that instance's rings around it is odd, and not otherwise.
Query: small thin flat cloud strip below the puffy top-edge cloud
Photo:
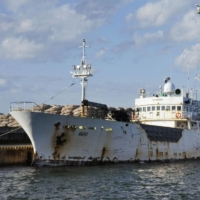
[[[141,45],[141,44],[160,41],[164,39],[164,32],[157,31],[156,33],[146,33],[144,35],[134,34],[133,38],[134,38],[135,44]]]

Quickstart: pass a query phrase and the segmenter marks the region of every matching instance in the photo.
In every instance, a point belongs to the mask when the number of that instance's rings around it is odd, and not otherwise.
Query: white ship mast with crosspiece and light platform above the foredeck
[[[82,86],[82,101],[85,100],[85,91],[86,91],[86,84],[87,78],[92,76],[91,74],[91,65],[86,63],[86,56],[85,56],[85,48],[89,47],[86,46],[86,41],[83,39],[83,45],[79,46],[83,48],[83,56],[80,65],[73,65],[72,69],[72,77],[73,78],[81,78],[81,86]]]

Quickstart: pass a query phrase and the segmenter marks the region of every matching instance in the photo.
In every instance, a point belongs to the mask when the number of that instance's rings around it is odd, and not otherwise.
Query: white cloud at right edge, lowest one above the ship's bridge
[[[175,60],[175,65],[183,71],[197,69],[200,63],[200,44],[184,49],[182,54]]]

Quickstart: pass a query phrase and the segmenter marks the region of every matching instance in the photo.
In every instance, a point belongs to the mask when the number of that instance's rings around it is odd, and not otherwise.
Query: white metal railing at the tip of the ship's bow
[[[35,102],[18,101],[10,103],[10,112],[12,111],[30,111],[33,112],[35,108],[40,109]],[[41,110],[42,111],[42,110]]]

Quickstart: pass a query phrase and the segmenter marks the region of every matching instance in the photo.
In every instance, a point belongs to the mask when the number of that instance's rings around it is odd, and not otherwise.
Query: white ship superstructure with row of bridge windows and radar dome
[[[135,100],[134,119],[141,124],[151,124],[180,129],[198,129],[200,120],[200,101],[197,94],[184,89],[175,89],[170,78],[165,79],[164,88],[151,97],[145,89],[140,89],[139,98]]]

